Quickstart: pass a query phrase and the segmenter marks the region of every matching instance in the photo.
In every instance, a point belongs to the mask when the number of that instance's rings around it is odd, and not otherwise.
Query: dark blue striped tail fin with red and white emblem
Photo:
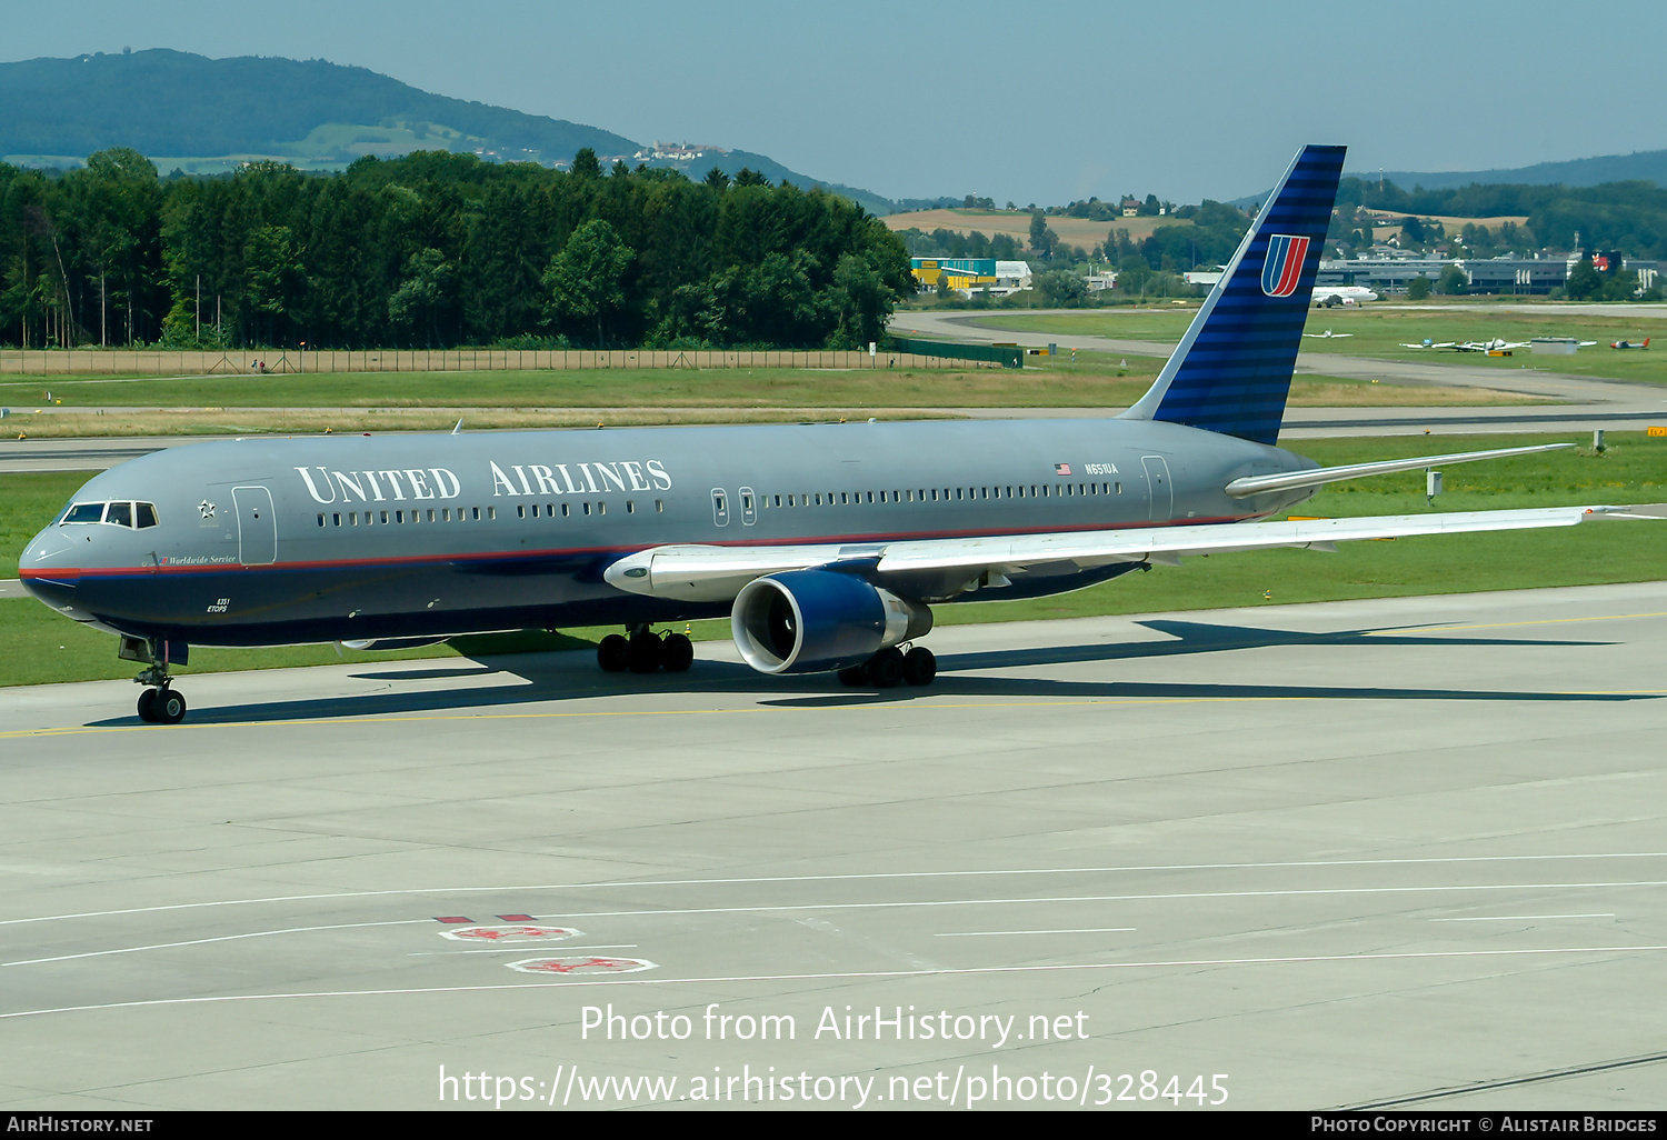
[[[1304,147],[1130,420],[1279,440],[1344,147]]]

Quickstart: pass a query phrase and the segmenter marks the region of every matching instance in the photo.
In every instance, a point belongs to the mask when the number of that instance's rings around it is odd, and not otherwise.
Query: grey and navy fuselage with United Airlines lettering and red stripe
[[[1312,492],[1232,498],[1230,480],[1310,467],[1229,435],[1104,418],[228,440],[98,475],[30,542],[20,577],[77,620],[197,645],[630,625],[728,608],[603,582],[648,547],[1239,522]],[[77,522],[93,503],[105,517]],[[1057,593],[1127,568],[967,597]]]

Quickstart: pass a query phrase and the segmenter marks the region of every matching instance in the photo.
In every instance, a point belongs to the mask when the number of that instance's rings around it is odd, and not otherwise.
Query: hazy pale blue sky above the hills
[[[170,47],[367,67],[889,197],[1175,202],[1350,170],[1667,147],[1662,0],[0,0],[0,58]],[[3,107],[0,107],[3,113]]]

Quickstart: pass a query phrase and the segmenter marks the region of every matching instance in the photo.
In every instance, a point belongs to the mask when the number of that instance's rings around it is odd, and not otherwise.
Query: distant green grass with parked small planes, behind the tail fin
[[[1447,298],[1444,298],[1445,303]],[[1497,300],[1497,298],[1495,298]],[[1192,310],[1165,312],[1150,308],[1085,310],[1080,313],[1000,313],[977,318],[982,328],[1012,332],[1055,333],[1059,337],[1115,337],[1124,340],[1177,342],[1192,320]],[[1322,308],[1309,313],[1307,330],[1349,333],[1347,338],[1304,340],[1305,352],[1329,352],[1347,357],[1372,357],[1379,360],[1420,360],[1427,363],[1464,363],[1467,367],[1517,372],[1539,368],[1569,375],[1604,377],[1642,383],[1667,383],[1667,340],[1664,352],[1615,352],[1610,342],[1667,335],[1667,310],[1659,318],[1639,318],[1617,313],[1585,315],[1560,312],[1545,305],[1537,313],[1464,312],[1452,308]],[[1510,357],[1482,353],[1457,353],[1430,348],[1402,348],[1402,343],[1465,342],[1465,340],[1532,340],[1534,337],[1575,337],[1595,340],[1592,348],[1582,348],[1574,357],[1535,357],[1519,348]]]

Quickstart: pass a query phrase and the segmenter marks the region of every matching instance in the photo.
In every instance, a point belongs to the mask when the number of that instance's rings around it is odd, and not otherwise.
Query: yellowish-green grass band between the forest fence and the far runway
[[[1167,313],[1159,313],[1167,317]],[[1064,318],[1072,320],[1072,318]],[[1179,333],[1177,333],[1179,335]],[[1347,343],[1347,342],[1344,342]],[[5,440],[90,435],[262,435],[465,428],[782,423],[922,418],[940,408],[1127,407],[1164,362],[1080,353],[1044,367],[944,372],[712,368],[618,372],[405,372],[303,377],[150,377],[0,382]],[[52,403],[47,403],[47,393]],[[1522,402],[1445,388],[1302,377],[1295,407]],[[47,412],[43,408],[50,407]],[[77,408],[87,408],[77,412]],[[605,410],[598,410],[605,408]]]

